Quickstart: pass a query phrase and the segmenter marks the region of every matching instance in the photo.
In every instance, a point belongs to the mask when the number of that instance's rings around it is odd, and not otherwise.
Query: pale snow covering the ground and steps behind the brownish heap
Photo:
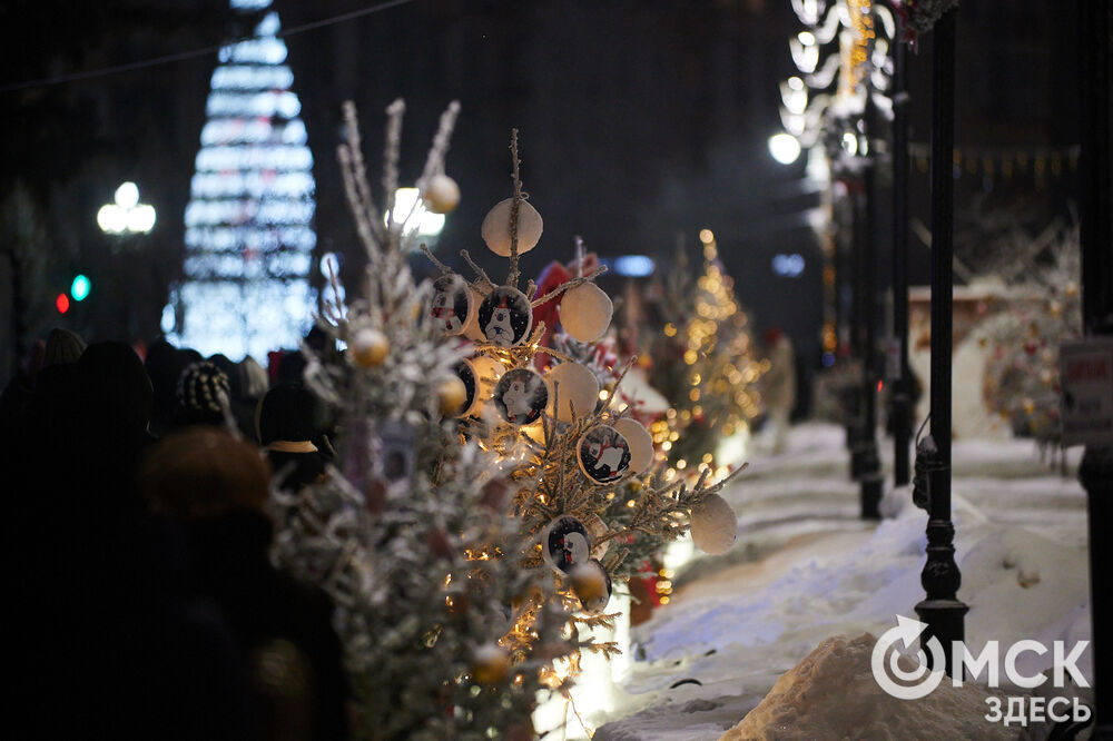
[[[718,739],[825,639],[879,635],[897,614],[915,616],[926,514],[905,488],[886,493],[889,518],[859,520],[847,458],[843,429],[824,424],[794,428],[785,454],[751,457],[723,494],[738,541],[688,564],[671,604],[633,629],[626,679],[588,718],[597,741]],[[1041,463],[1027,441],[956,442],[953,461],[971,649],[1089,639],[1085,494],[1073,474]],[[1073,471],[1077,455],[1067,462]],[[1025,671],[1050,665],[1025,659]],[[1086,652],[1087,676],[1089,662]]]

